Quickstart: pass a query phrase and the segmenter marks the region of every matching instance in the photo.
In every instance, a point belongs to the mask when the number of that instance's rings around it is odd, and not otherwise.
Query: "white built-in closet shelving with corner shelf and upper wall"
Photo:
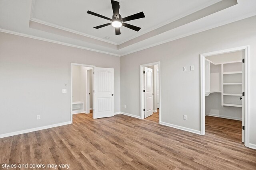
[[[205,60],[205,96],[221,93],[222,106],[242,107],[242,61]]]

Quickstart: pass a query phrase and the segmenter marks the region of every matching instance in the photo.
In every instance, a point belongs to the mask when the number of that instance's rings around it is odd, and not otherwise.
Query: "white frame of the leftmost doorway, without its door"
[[[72,106],[72,103],[73,103],[73,101],[72,101],[72,66],[92,67],[92,71],[94,71],[94,68],[95,68],[95,66],[93,66],[93,65],[70,63],[70,121],[71,121],[71,123],[73,123],[73,114],[72,114],[72,109],[73,109],[73,106]],[[94,76],[92,76],[92,84],[94,83],[93,80],[94,80]],[[92,85],[92,88],[93,88],[93,85]],[[87,90],[87,88],[86,88],[86,90]],[[86,100],[87,100],[87,97],[86,97]],[[86,103],[87,103],[87,101],[86,101]],[[94,95],[92,95],[92,106],[94,106]],[[86,108],[86,110],[87,110],[87,108]]]

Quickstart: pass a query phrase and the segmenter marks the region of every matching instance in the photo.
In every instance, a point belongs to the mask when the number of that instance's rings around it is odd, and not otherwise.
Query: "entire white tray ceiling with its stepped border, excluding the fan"
[[[127,22],[142,27],[140,31],[121,27],[121,35],[115,35],[111,25],[93,28],[108,20],[86,12],[111,18],[110,0],[0,0],[0,31],[122,56],[256,15],[256,0],[237,0],[238,4],[235,0],[118,1],[122,18],[144,12],[146,18]],[[226,3],[226,9],[224,5],[217,9],[216,2]],[[201,15],[213,7],[217,11]],[[200,17],[182,23],[182,17],[189,18],[196,11]],[[107,36],[109,40],[104,39]]]

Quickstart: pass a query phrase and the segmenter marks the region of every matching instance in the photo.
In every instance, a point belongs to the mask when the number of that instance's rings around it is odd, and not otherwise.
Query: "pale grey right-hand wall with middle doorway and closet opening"
[[[256,16],[121,57],[121,106],[127,106],[121,111],[140,115],[140,64],[160,61],[160,121],[200,131],[200,54],[250,45],[248,111],[250,143],[256,145],[255,21]],[[195,66],[194,71],[182,71],[190,65]],[[182,119],[183,114],[187,120]]]

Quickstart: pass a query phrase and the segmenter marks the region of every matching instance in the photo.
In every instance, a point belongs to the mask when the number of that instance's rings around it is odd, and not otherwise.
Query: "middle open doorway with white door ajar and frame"
[[[140,65],[141,119],[160,123],[160,62]]]

